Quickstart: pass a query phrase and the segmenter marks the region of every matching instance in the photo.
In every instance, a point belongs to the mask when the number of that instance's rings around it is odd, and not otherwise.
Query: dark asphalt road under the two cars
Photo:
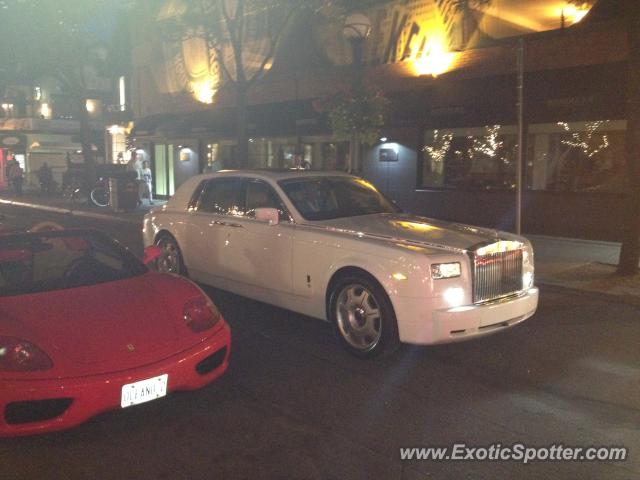
[[[0,207],[5,223],[135,226]],[[328,324],[207,289],[233,331],[231,366],[191,393],[79,428],[0,441],[0,479],[640,478],[634,307],[543,288],[524,324],[362,361]],[[401,461],[401,447],[625,446],[625,462]]]

